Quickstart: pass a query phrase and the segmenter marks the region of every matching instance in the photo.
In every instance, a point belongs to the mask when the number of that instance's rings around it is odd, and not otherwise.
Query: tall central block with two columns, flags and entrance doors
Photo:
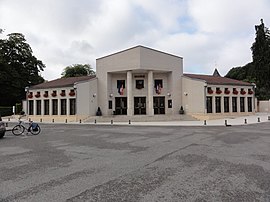
[[[176,114],[181,106],[182,74],[181,57],[142,46],[99,58],[99,107],[104,115]],[[136,86],[139,80],[142,88]],[[120,81],[123,94],[118,92]],[[157,93],[158,82],[161,89]]]

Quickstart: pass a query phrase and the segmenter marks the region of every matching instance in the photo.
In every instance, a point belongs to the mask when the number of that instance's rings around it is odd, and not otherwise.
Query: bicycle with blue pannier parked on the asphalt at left
[[[20,120],[21,117],[19,118],[19,123],[13,127],[12,133],[13,135],[19,136],[23,134],[25,130],[27,130],[27,133],[30,132],[33,135],[38,135],[41,132],[41,129],[37,123],[34,123],[33,121],[29,122],[29,127],[26,127],[24,125],[24,122]]]

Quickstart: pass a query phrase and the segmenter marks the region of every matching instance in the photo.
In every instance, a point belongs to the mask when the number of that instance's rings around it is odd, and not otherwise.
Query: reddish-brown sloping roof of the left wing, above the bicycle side
[[[93,79],[95,77],[96,76],[79,76],[79,77],[60,78],[60,79],[44,82],[35,86],[31,86],[30,89],[68,87],[68,86],[73,86],[74,83],[76,82],[86,81],[89,79]]]

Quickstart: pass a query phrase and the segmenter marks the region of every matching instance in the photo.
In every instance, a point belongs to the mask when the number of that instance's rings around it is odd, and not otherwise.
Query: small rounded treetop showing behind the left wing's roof
[[[95,71],[89,64],[74,64],[67,66],[62,72],[62,78],[95,75]]]

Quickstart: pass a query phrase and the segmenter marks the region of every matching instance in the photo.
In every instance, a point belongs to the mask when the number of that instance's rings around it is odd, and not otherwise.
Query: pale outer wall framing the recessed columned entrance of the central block
[[[123,74],[126,78],[127,71],[132,70],[132,74],[148,73],[149,70],[156,73],[166,73],[168,88],[173,100],[173,113],[178,113],[182,104],[181,99],[181,75],[183,74],[183,59],[167,53],[156,51],[142,46],[137,46],[125,51],[121,51],[103,58],[97,59],[98,78],[98,103],[104,114],[110,115],[108,110],[109,95],[114,93],[112,89],[112,75],[114,73]],[[113,73],[113,74],[112,74]],[[114,85],[114,84],[113,84]],[[167,92],[166,92],[167,93]]]

